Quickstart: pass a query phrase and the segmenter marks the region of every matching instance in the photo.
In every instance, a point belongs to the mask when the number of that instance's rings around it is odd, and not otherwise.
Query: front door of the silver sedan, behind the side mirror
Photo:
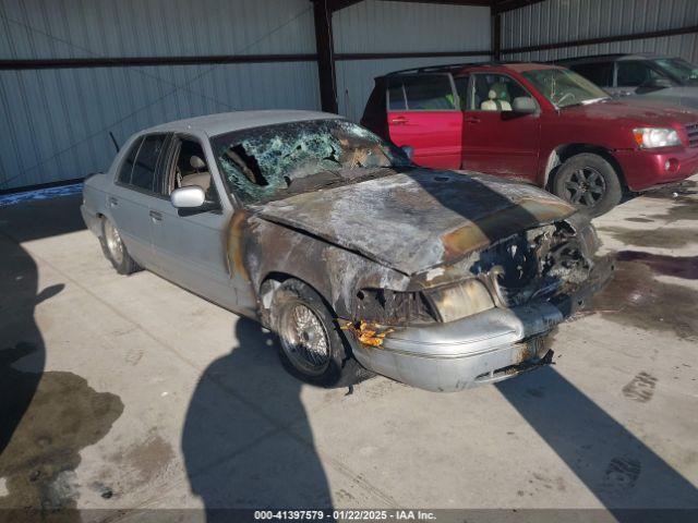
[[[166,163],[161,198],[149,208],[153,247],[158,271],[166,278],[224,307],[234,309],[237,293],[227,256],[231,209],[221,205],[222,184],[210,170],[203,141],[176,135]],[[192,157],[203,160],[196,165]],[[177,209],[169,195],[179,186],[200,185],[217,208],[207,211]],[[226,206],[229,207],[229,206]]]

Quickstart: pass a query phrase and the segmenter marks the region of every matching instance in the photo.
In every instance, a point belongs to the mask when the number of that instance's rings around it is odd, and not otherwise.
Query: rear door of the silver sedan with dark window
[[[139,136],[117,171],[107,196],[108,212],[131,256],[148,269],[154,256],[151,243],[151,202],[157,198],[156,173],[167,150],[167,134]]]

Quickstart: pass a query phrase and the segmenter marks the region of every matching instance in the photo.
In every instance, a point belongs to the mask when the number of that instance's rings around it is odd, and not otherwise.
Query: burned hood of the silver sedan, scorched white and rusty
[[[452,264],[575,209],[531,185],[412,169],[252,206],[258,217],[406,275]]]

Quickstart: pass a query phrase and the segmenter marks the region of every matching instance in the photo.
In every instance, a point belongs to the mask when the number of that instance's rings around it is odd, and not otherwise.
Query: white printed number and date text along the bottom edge
[[[433,512],[421,510],[256,510],[255,520],[349,520],[349,521],[430,521]]]

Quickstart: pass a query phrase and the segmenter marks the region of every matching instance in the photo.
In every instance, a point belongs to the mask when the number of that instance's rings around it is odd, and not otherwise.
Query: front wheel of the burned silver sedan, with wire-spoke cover
[[[270,324],[279,357],[297,378],[323,387],[347,387],[373,376],[350,356],[335,315],[312,288],[288,279],[274,292]]]

